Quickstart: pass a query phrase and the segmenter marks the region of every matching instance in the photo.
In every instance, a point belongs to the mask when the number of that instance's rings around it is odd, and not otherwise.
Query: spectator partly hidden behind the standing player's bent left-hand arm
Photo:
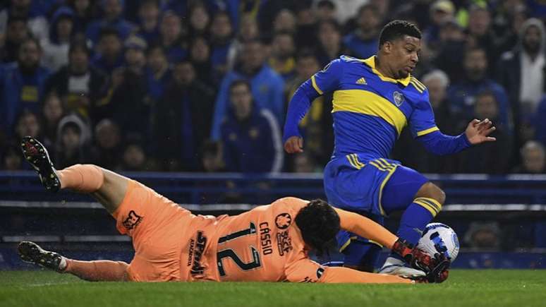
[[[317,57],[310,52],[298,54],[296,78],[286,85],[289,102],[301,83],[320,70]],[[309,112],[300,121],[300,131],[305,138],[305,152],[324,165],[332,155],[334,134],[332,128],[332,95],[321,95],[313,100]]]

